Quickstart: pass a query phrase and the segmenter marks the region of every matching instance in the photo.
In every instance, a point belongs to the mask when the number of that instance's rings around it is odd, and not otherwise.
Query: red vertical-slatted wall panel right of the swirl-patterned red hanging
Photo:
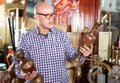
[[[92,28],[94,21],[98,19],[98,9],[100,0],[80,0],[80,27]]]

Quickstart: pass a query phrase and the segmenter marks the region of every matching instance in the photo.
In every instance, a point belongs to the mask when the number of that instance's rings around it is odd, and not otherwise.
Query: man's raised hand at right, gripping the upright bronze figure
[[[87,47],[87,46],[85,46],[84,45],[84,47],[80,47],[80,49],[79,49],[79,51],[81,52],[81,53],[83,53],[83,55],[85,56],[85,57],[87,57],[87,56],[89,56],[92,52],[93,52],[93,45],[92,44],[90,44],[90,48],[89,47]]]

